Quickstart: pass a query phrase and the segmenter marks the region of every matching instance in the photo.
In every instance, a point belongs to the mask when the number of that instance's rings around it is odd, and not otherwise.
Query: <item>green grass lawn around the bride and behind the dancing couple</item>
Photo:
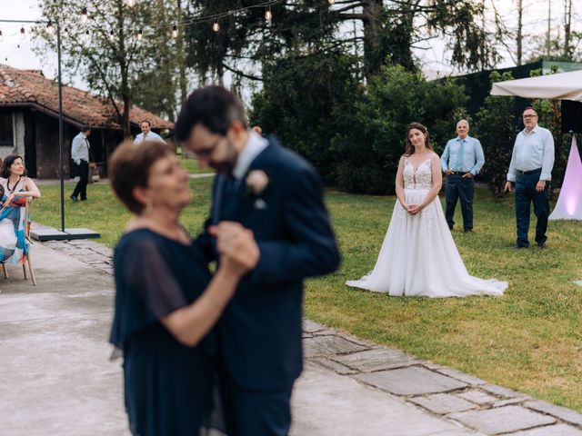
[[[184,223],[196,233],[212,179],[190,183],[195,198]],[[58,226],[58,186],[41,190],[34,219]],[[128,215],[105,184],[90,185],[88,196],[85,203],[66,203],[66,225],[99,231],[102,242],[113,246]],[[346,280],[374,267],[394,202],[327,194],[344,262],[336,274],[306,283],[306,316],[582,411],[582,287],[573,283],[582,279],[582,223],[550,222],[547,250],[513,250],[513,197],[496,200],[477,190],[475,233],[453,235],[470,273],[509,282],[504,297],[429,300],[346,287]]]

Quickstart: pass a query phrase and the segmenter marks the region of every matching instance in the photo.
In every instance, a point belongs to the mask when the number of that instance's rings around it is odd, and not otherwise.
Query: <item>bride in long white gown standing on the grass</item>
[[[472,277],[457,251],[438,199],[442,174],[426,127],[406,129],[398,163],[398,198],[376,266],[348,286],[389,295],[465,297],[502,295],[507,282]]]

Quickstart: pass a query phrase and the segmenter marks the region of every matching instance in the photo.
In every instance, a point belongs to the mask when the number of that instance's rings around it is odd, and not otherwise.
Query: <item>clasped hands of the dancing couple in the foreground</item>
[[[256,267],[260,256],[254,233],[240,223],[222,221],[208,228],[216,237],[220,264],[230,272],[243,275]]]

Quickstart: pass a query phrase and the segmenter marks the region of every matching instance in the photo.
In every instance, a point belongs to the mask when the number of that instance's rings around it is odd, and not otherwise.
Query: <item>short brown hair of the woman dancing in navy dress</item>
[[[145,209],[135,200],[134,188],[146,188],[154,163],[172,154],[172,147],[157,141],[144,141],[138,147],[125,141],[117,146],[109,160],[109,179],[115,195],[132,213],[140,214]]]

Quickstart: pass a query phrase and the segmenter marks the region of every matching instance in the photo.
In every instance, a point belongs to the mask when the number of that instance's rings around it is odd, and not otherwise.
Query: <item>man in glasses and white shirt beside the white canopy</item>
[[[536,243],[546,248],[547,217],[549,216],[548,190],[554,167],[554,137],[537,125],[537,112],[527,107],[523,113],[526,128],[517,134],[507,172],[506,192],[516,189],[517,243],[516,248],[527,248],[530,205],[534,203],[537,216]]]

